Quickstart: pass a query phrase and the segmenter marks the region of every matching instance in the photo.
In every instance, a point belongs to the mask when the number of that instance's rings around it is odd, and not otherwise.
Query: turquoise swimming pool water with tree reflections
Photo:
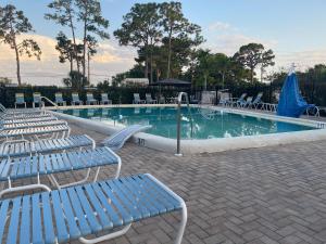
[[[147,131],[148,133],[176,138],[175,107],[83,108],[61,112],[113,126],[151,125],[152,128]],[[316,129],[199,107],[191,107],[190,112],[187,107],[183,107],[181,114],[181,139],[231,138]]]

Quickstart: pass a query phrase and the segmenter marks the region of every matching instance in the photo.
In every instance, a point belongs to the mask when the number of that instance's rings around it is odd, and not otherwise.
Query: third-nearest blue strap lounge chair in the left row
[[[32,156],[90,146],[95,149],[96,142],[87,134],[70,136],[67,138],[58,139],[42,139],[32,142],[27,140],[5,141],[0,145],[0,158]]]

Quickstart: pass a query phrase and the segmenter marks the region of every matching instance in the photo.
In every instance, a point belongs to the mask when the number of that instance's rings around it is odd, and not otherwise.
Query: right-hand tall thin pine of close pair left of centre
[[[101,39],[109,39],[106,33],[109,21],[102,16],[101,3],[99,0],[76,0],[78,7],[78,21],[83,22],[83,76],[86,75],[86,60],[88,36],[90,34],[99,36]]]

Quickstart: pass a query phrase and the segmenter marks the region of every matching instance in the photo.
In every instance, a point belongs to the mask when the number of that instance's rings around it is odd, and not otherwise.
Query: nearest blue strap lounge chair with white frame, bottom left
[[[130,176],[1,201],[0,241],[108,243],[133,222],[174,211],[183,215],[175,240],[180,244],[187,223],[183,198],[151,175]],[[88,240],[90,234],[97,237]]]

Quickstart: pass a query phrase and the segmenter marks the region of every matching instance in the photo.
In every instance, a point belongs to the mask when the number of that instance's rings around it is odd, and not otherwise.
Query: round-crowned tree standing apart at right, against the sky
[[[264,46],[261,43],[249,43],[242,46],[240,50],[234,55],[234,59],[237,62],[250,69],[251,82],[253,82],[254,69],[259,66],[259,64],[267,66],[274,65],[274,57],[275,55],[273,54],[273,51],[265,51]]]

